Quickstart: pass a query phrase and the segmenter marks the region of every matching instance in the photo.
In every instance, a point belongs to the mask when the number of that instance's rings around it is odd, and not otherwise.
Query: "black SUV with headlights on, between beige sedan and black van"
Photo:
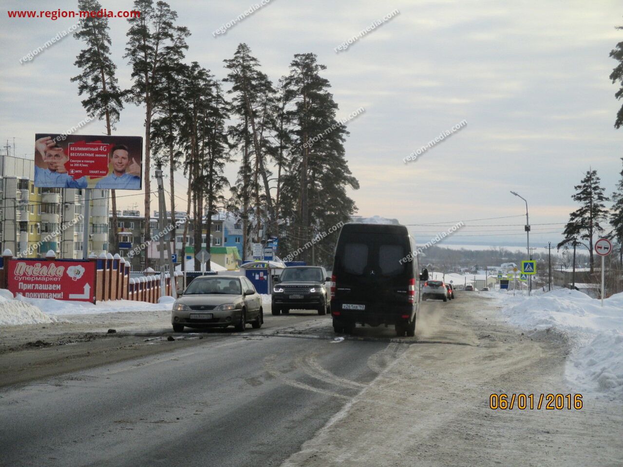
[[[290,309],[316,309],[318,314],[330,313],[330,281],[325,268],[285,268],[273,286],[272,314],[288,314]]]

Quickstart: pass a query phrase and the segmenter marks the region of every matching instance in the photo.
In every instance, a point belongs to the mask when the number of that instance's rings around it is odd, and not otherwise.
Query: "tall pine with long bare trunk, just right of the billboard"
[[[164,73],[167,57],[188,49],[186,37],[190,35],[186,27],[175,26],[178,14],[163,1],[135,0],[133,9],[140,11],[140,17],[128,19],[128,44],[125,58],[132,67],[133,85],[128,90],[128,100],[136,105],[145,105],[145,240],[150,240],[150,200],[151,200],[151,119],[159,102],[156,84]]]

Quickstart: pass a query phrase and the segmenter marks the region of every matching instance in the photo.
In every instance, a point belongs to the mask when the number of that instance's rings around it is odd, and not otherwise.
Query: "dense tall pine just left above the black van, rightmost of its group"
[[[297,54],[285,78],[285,95],[292,122],[287,173],[280,191],[282,216],[287,219],[286,248],[295,250],[338,222],[346,222],[355,212],[346,188],[359,188],[345,158],[344,141],[348,131],[336,120],[338,105],[328,92],[330,83],[320,76],[325,65],[315,54]],[[328,264],[337,234],[317,243],[303,258]],[[285,251],[282,250],[282,253]]]

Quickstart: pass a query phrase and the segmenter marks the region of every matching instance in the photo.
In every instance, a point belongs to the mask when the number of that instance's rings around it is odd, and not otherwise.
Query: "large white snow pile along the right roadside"
[[[537,296],[506,296],[502,309],[512,324],[528,329],[556,328],[573,345],[566,377],[574,390],[623,399],[623,293],[595,300],[577,290]]]

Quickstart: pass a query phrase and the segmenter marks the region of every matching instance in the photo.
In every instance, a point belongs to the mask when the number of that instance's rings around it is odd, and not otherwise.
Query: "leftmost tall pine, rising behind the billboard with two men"
[[[80,11],[99,11],[102,5],[97,0],[79,0]],[[86,17],[80,20],[80,29],[74,34],[78,40],[85,43],[85,48],[77,55],[74,65],[82,70],[82,73],[71,78],[72,82],[78,82],[78,95],[86,95],[82,100],[82,106],[88,115],[105,120],[106,133],[110,136],[115,124],[119,121],[123,110],[123,92],[118,85],[115,72],[117,65],[114,64],[110,55],[110,34],[108,34],[107,17]],[[117,196],[115,190],[110,191],[112,200],[112,231],[113,253],[119,251],[119,232],[117,228]],[[84,222],[88,222],[85,219]],[[82,245],[85,252],[88,245]]]

